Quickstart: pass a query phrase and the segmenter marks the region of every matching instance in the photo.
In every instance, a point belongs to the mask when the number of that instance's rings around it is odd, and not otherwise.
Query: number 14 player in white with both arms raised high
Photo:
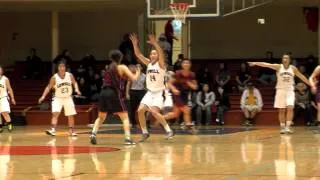
[[[139,122],[142,130],[142,138],[140,142],[145,141],[149,138],[149,132],[146,126],[145,113],[150,112],[156,120],[164,127],[167,132],[166,139],[171,139],[173,132],[169,127],[167,121],[160,114],[160,110],[163,108],[165,101],[165,75],[166,65],[165,57],[161,47],[159,46],[156,38],[153,35],[149,35],[148,43],[153,46],[153,50],[150,52],[150,59],[142,55],[139,45],[138,38],[135,34],[130,35],[131,42],[134,47],[134,53],[141,64],[147,66],[147,93],[143,97],[140,106],[138,108]]]

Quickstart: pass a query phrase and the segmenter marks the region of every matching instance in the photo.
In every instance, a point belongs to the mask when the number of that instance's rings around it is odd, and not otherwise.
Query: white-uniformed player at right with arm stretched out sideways
[[[277,71],[276,97],[274,107],[279,109],[278,118],[280,121],[281,134],[293,133],[290,125],[293,118],[293,108],[295,104],[294,77],[297,76],[304,83],[310,85],[308,79],[299,70],[290,65],[290,56],[282,56],[282,64],[270,64],[265,62],[249,62],[250,66],[260,66]]]

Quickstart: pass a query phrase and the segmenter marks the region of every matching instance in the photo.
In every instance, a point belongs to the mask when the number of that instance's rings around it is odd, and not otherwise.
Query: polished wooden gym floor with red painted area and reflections
[[[104,128],[98,145],[89,144],[89,128],[55,138],[46,127],[15,127],[0,134],[0,180],[9,179],[320,179],[320,130],[294,127],[209,127],[200,135],[177,131],[164,140],[160,130],[145,143],[124,146],[120,128]],[[64,129],[63,129],[64,128]],[[135,140],[139,134],[134,134]]]

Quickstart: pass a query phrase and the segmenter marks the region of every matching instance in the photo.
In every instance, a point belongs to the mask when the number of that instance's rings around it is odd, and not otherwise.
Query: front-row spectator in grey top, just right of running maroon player
[[[202,91],[197,94],[197,122],[196,124],[209,124],[212,121],[212,105],[215,101],[215,94],[210,89],[209,84],[204,84]],[[203,121],[203,113],[206,119]]]

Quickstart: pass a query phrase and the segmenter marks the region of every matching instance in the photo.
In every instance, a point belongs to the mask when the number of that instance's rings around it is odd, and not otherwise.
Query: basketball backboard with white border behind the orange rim
[[[220,0],[147,0],[147,14],[150,19],[174,18],[170,4],[188,3],[187,18],[219,17]]]

